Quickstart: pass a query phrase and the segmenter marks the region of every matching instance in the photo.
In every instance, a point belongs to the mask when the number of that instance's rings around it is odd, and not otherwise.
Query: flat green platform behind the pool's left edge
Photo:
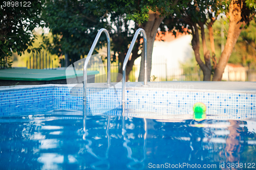
[[[88,79],[90,83],[94,82],[95,75],[99,74],[99,71],[87,71]],[[67,79],[81,79],[83,77],[83,71],[76,71],[76,75],[73,70],[59,70],[59,69],[27,69],[27,68],[12,68],[0,70],[0,86],[12,85],[19,82],[21,84],[67,84]],[[32,83],[33,82],[33,83]]]

